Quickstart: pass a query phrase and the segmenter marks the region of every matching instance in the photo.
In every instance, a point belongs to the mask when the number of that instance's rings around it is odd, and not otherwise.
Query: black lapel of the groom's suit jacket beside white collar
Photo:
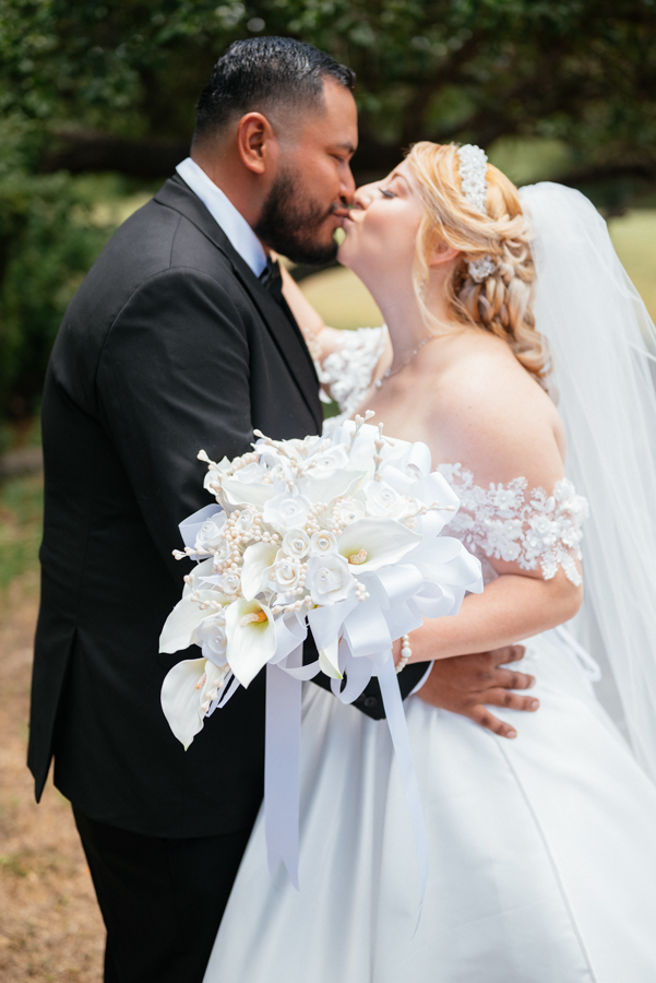
[[[300,328],[287,303],[284,301],[282,306],[273,299],[202,201],[181,178],[170,178],[155,194],[155,201],[184,215],[228,259],[286,363],[317,424],[318,433],[321,433],[323,414],[319,400],[319,380]]]

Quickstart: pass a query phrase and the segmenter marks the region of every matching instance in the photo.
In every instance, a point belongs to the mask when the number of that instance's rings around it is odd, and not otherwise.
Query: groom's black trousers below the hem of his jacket
[[[107,928],[105,983],[202,983],[250,828],[165,839],[73,812]]]

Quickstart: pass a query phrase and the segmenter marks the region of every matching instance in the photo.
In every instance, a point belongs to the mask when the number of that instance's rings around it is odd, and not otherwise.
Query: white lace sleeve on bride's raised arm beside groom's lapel
[[[344,331],[344,342],[318,367],[319,381],[339,406],[338,419],[347,419],[371,386],[371,376],[383,354],[387,329]],[[333,417],[337,419],[337,417]]]

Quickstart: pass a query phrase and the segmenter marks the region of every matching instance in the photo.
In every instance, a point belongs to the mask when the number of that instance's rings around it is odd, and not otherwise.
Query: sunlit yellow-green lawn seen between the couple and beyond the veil
[[[635,210],[610,222],[610,235],[631,280],[656,321],[656,209]],[[326,270],[301,282],[308,299],[334,328],[382,324],[367,287],[346,269]]]

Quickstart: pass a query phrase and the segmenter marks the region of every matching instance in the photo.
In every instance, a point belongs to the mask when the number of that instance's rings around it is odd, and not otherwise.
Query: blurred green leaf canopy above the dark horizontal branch
[[[653,165],[655,26],[655,0],[0,0],[0,107],[186,138],[222,49],[283,34],[357,71],[375,138],[523,133]]]

